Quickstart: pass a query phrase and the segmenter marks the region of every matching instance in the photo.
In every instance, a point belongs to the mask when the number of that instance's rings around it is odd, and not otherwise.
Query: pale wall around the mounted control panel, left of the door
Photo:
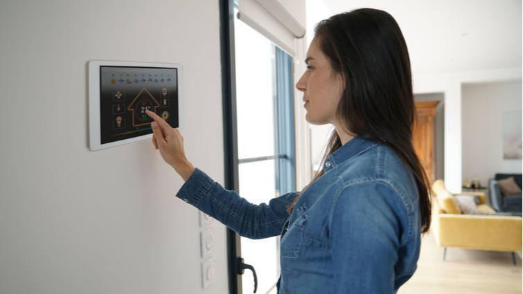
[[[203,290],[181,178],[150,141],[89,151],[87,123],[89,60],[182,64],[187,157],[223,183],[218,1],[3,0],[0,39],[0,293],[228,293],[224,226]]]

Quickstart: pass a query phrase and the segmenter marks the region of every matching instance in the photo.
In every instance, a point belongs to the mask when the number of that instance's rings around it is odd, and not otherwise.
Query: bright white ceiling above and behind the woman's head
[[[332,15],[389,12],[407,42],[413,75],[522,67],[521,0],[323,0]]]

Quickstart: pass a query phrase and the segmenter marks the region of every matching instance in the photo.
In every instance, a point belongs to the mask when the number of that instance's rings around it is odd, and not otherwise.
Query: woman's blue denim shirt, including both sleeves
[[[242,237],[281,237],[278,293],[396,293],[416,270],[420,210],[414,176],[384,143],[356,136],[297,192],[254,205],[200,169],[177,196]]]

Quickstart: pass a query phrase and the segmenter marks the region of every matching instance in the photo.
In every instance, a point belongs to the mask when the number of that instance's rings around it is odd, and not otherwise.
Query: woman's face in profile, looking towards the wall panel
[[[326,55],[319,47],[319,39],[310,43],[303,73],[296,89],[303,92],[303,102],[307,114],[305,119],[313,125],[335,125],[336,108],[342,97],[344,84],[342,75],[335,73]]]

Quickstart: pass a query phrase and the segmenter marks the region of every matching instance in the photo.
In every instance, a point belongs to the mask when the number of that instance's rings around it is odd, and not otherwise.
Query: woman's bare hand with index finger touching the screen
[[[187,181],[190,174],[193,174],[194,167],[185,157],[184,138],[178,129],[173,129],[170,125],[152,111],[145,111],[150,118],[152,128],[152,143],[156,149],[160,150],[161,157],[166,160],[172,168]]]

